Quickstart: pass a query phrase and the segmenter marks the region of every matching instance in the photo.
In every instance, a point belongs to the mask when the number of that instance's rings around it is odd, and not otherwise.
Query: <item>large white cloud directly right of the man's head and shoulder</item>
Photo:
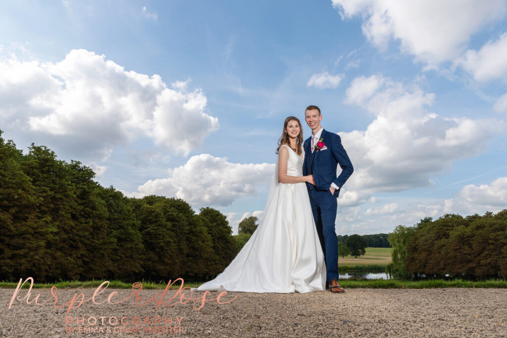
[[[355,168],[346,183],[350,205],[359,195],[428,186],[431,175],[449,170],[456,159],[485,151],[502,131],[503,123],[494,119],[429,112],[433,100],[417,85],[380,75],[351,82],[345,102],[365,108],[375,119],[366,131],[339,134]]]

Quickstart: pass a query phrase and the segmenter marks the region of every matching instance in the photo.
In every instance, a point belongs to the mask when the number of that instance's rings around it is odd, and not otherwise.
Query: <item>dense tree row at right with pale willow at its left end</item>
[[[427,217],[389,234],[388,271],[403,278],[507,278],[507,209],[497,214]]]

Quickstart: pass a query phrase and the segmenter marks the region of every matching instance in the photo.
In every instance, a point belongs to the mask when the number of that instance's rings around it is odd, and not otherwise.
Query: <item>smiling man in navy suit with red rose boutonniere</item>
[[[306,183],[312,207],[315,227],[324,252],[327,269],[327,283],[333,292],[345,292],[338,283],[338,239],[335,232],[338,194],[354,168],[343,149],[340,137],[329,133],[320,126],[322,115],[317,106],[308,106],[305,120],[312,136],[305,143],[303,175],[313,175],[315,185]],[[338,164],[342,172],[336,177]]]

